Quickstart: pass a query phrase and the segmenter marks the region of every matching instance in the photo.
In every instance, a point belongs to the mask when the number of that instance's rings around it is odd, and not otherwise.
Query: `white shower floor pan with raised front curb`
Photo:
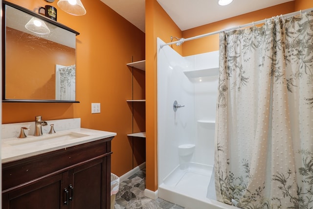
[[[158,186],[158,196],[186,209],[235,209],[206,197],[213,166],[190,163],[188,168],[176,167]]]

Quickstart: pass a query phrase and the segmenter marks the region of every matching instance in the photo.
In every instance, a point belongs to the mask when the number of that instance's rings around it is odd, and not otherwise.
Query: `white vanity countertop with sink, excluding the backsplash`
[[[1,139],[1,161],[7,163],[98,139],[116,136],[116,133],[86,128],[75,128],[44,134],[40,137]]]

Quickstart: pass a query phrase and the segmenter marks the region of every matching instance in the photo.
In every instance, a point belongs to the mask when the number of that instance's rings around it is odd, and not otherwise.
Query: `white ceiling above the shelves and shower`
[[[145,32],[145,0],[101,1]],[[233,0],[220,6],[218,0],[157,0],[182,31],[288,1],[291,0]]]

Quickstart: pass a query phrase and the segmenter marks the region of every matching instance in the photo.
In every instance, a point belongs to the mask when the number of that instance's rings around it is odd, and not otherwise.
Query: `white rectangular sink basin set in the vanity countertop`
[[[52,135],[50,135],[50,134],[49,135],[43,135],[40,137],[28,136],[27,138],[10,140],[10,141],[6,141],[4,143],[11,145],[11,146],[16,146],[16,145],[28,144],[28,143],[32,143],[32,142],[41,142],[41,141],[47,142],[47,140],[65,141],[65,140],[77,139],[77,138],[88,137],[88,136],[89,135],[76,133],[76,132],[65,132],[65,133],[56,133],[56,134],[52,134]]]

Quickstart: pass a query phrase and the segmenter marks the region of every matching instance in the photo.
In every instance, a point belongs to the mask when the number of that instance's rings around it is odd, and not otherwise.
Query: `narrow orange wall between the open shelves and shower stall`
[[[156,0],[146,0],[146,188],[152,191],[157,189],[156,38],[170,42],[181,35]]]

